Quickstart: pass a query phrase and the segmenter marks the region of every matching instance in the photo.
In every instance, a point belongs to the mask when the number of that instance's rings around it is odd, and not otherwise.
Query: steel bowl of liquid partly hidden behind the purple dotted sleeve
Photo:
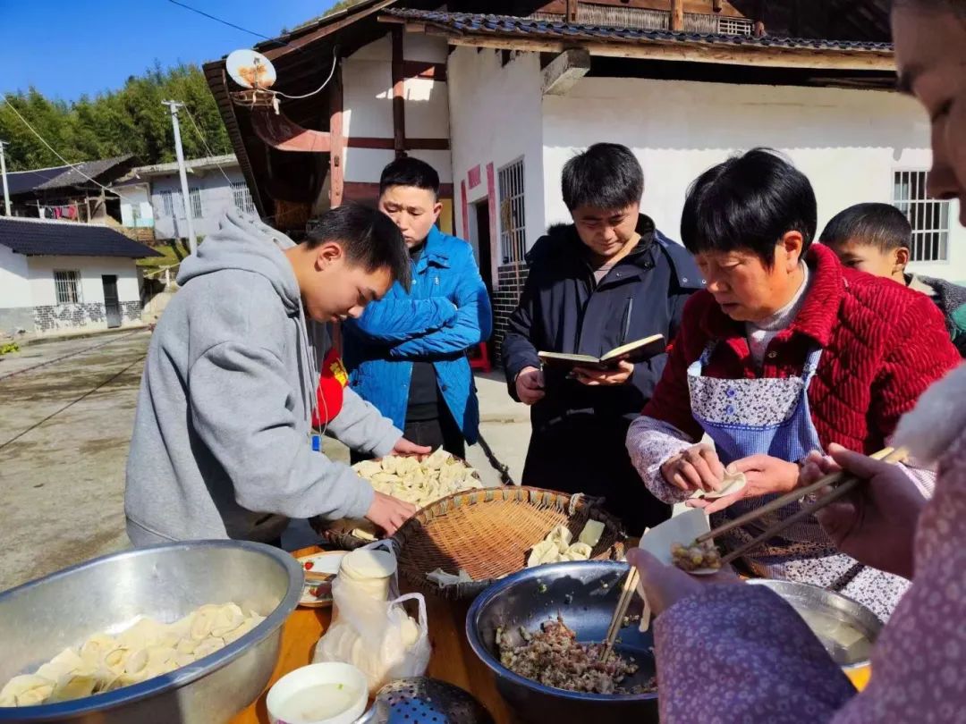
[[[785,599],[798,615],[805,619],[825,650],[843,669],[868,664],[875,640],[882,630],[882,622],[866,606],[834,591],[827,591],[808,583],[753,578],[754,586],[764,586]],[[843,646],[832,628],[848,627],[861,635],[861,640]]]

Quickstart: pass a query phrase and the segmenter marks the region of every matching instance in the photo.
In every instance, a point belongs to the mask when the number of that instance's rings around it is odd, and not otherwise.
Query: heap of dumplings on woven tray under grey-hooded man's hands
[[[441,448],[422,460],[387,456],[358,462],[353,469],[379,492],[420,509],[454,492],[483,487],[473,468]]]

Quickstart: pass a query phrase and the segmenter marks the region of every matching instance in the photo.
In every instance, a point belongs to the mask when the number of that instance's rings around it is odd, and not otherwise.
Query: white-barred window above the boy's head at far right
[[[912,225],[911,261],[949,260],[950,202],[933,199],[926,191],[925,171],[896,171],[893,204]]]

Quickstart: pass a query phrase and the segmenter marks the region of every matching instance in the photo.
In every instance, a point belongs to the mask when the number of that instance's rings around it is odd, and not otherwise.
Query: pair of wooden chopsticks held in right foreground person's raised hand
[[[899,448],[897,450],[895,448],[886,448],[884,450],[880,450],[878,453],[873,453],[869,457],[871,459],[885,460],[886,462],[899,462],[909,457],[909,451],[905,450],[904,448]],[[698,536],[696,539],[696,543],[703,543],[705,541],[710,541],[714,538],[717,538],[718,536],[721,536],[724,533],[727,533],[728,531],[734,530],[735,528],[739,528],[745,525],[746,523],[756,520],[762,515],[768,515],[769,513],[773,513],[779,510],[780,508],[783,508],[789,503],[794,503],[800,500],[801,498],[805,497],[806,495],[810,495],[811,493],[818,492],[819,490],[825,487],[836,486],[832,489],[831,492],[823,495],[818,500],[812,501],[809,505],[805,506],[802,510],[798,511],[794,515],[789,515],[783,520],[780,520],[775,525],[768,528],[760,536],[755,538],[753,541],[750,541],[749,543],[745,543],[744,545],[741,545],[735,550],[730,551],[727,555],[725,555],[722,558],[723,565],[731,563],[736,558],[743,556],[749,550],[752,550],[753,548],[757,547],[761,543],[765,543],[766,541],[774,538],[779,533],[781,533],[781,531],[785,530],[789,526],[792,526],[795,523],[799,522],[800,520],[803,520],[804,518],[807,518],[810,515],[813,515],[815,511],[821,510],[822,508],[829,505],[830,503],[833,503],[839,498],[844,497],[845,495],[847,495],[849,492],[854,490],[862,483],[863,483],[862,479],[855,478],[849,475],[849,473],[845,471],[840,471],[838,473],[832,473],[831,475],[826,475],[821,480],[818,480],[812,483],[810,486],[796,488],[791,492],[785,495],[782,495],[780,498],[776,498],[770,503],[766,503],[765,505],[761,506],[761,508],[751,511],[750,513],[747,513],[745,515],[740,515],[736,517],[734,520],[729,520],[724,525],[720,525],[714,530],[708,533],[705,533],[701,536]]]

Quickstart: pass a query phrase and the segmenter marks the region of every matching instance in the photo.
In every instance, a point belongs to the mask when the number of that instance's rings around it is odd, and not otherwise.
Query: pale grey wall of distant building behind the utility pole
[[[241,170],[236,167],[224,167],[225,173],[231,181],[244,182]],[[207,237],[218,228],[221,215],[228,209],[235,207],[235,199],[229,181],[217,169],[213,171],[195,172],[187,176],[188,188],[197,187],[201,191],[201,218],[192,219],[194,233],[199,237]],[[164,210],[161,192],[172,192],[174,214]],[[153,177],[151,180],[151,205],[155,209],[155,236],[159,239],[187,237],[187,223],[185,209],[182,206],[181,179],[177,173],[167,176]],[[190,212],[190,204],[188,205]]]

